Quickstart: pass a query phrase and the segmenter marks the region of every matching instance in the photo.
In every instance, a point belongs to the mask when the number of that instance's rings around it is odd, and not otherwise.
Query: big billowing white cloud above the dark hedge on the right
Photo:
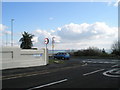
[[[61,43],[63,45],[66,43],[65,47],[69,48],[85,48],[89,46],[110,48],[110,45],[118,37],[118,28],[110,27],[104,22],[95,22],[93,24],[71,23],[57,28],[56,32],[61,37]],[[63,45],[61,45],[61,48],[63,48]]]

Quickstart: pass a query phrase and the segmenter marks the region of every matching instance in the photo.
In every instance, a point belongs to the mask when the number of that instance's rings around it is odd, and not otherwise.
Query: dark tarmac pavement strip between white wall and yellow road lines
[[[22,67],[2,70],[2,77],[9,77],[19,74],[31,73],[31,72],[45,72],[52,70],[59,70],[65,67],[74,67],[85,64],[81,61],[65,60],[64,63],[52,63],[45,66],[34,66],[34,67]]]

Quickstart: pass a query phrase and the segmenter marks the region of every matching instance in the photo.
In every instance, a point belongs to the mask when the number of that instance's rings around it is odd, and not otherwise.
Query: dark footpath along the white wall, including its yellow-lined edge
[[[11,79],[17,77],[32,76],[37,74],[46,74],[64,69],[75,68],[83,65],[80,61],[66,60],[64,63],[52,63],[45,66],[35,66],[27,68],[13,68],[2,70],[2,77],[0,79]]]

